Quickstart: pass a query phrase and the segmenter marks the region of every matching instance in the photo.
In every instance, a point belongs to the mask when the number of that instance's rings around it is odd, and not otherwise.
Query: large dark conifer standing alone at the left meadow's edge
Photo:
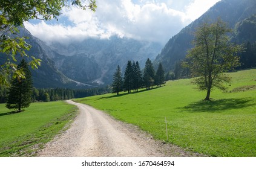
[[[21,60],[18,69],[24,72],[25,77],[12,78],[6,107],[8,109],[18,109],[21,112],[22,108],[30,106],[33,81],[28,64],[24,59]]]

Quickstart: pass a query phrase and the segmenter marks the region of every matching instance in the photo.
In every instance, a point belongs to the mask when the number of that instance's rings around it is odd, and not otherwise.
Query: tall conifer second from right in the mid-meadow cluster
[[[145,63],[144,72],[143,72],[143,81],[147,90],[150,89],[150,87],[153,88],[154,77],[155,77],[155,71],[154,71],[153,63],[151,62],[150,59],[147,59]]]

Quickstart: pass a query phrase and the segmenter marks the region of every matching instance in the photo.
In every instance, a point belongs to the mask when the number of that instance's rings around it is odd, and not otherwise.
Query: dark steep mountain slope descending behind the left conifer
[[[67,78],[56,68],[55,63],[49,57],[51,49],[46,46],[44,42],[32,36],[25,28],[19,28],[19,35],[28,37],[26,41],[32,45],[31,49],[26,52],[28,56],[34,56],[42,60],[39,69],[31,69],[33,84],[36,88],[73,88],[77,85],[77,83]],[[0,65],[6,61],[6,58],[7,57],[0,57]],[[17,59],[19,63],[21,57],[17,57]],[[30,61],[27,57],[24,59],[27,60],[27,62]]]

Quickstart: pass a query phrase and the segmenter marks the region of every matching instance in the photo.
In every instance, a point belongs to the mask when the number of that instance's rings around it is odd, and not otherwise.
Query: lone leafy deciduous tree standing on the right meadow
[[[238,66],[238,52],[241,46],[229,41],[231,30],[221,19],[209,24],[204,22],[195,31],[194,48],[188,51],[185,65],[191,69],[194,83],[199,89],[206,90],[205,100],[210,99],[213,87],[225,89],[223,82],[231,78],[224,74]]]

